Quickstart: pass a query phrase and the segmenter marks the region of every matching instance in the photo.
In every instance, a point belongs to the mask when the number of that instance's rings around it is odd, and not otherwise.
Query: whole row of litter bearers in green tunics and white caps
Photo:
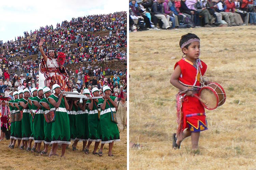
[[[103,87],[103,94],[102,99],[92,99],[91,97],[99,97],[99,89],[95,87],[91,93],[89,89],[84,89],[83,95],[89,99],[79,103],[67,101],[58,84],[53,85],[52,90],[49,87],[39,87],[32,88],[31,91],[27,88],[15,91],[13,100],[9,101],[9,148],[13,149],[17,141],[18,147],[22,150],[27,148],[28,152],[46,155],[49,145],[52,144],[49,152],[49,157],[52,157],[57,155],[58,144],[62,144],[62,157],[65,155],[67,145],[74,140],[73,151],[76,151],[77,142],[82,141],[82,150],[89,154],[90,145],[95,142],[92,153],[102,156],[104,144],[109,143],[108,155],[113,156],[114,141],[120,141],[117,124],[111,120],[111,113],[116,111],[117,98],[111,96],[111,89],[108,86]],[[55,121],[47,123],[44,115],[53,110]],[[44,150],[40,151],[42,142]],[[97,152],[100,142],[101,146]]]

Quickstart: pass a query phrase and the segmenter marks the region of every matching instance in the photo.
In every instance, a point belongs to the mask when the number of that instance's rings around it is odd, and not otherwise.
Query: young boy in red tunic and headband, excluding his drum
[[[200,132],[208,129],[204,107],[196,98],[201,83],[208,83],[202,79],[207,65],[199,59],[200,39],[195,34],[183,35],[180,47],[185,57],[175,64],[170,80],[179,89],[176,96],[178,129],[177,134],[173,134],[172,147],[179,149],[182,140],[191,136],[192,149],[196,150]]]

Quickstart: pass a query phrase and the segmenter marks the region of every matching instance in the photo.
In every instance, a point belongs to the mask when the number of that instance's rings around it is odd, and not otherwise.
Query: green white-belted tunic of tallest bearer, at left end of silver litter
[[[59,97],[54,94],[49,96],[49,99],[55,100],[57,103]],[[49,103],[50,109],[54,109],[55,107]],[[69,127],[69,116],[67,113],[67,109],[65,107],[65,101],[62,98],[60,106],[56,108],[56,116],[55,121],[52,122],[52,142],[51,143],[65,143],[71,144],[70,142],[70,127]]]

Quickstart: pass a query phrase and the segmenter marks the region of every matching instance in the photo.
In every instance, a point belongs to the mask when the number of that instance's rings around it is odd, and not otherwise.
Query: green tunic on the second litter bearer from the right
[[[91,100],[87,100],[87,106],[91,103]],[[98,103],[94,101],[93,109],[88,113],[89,129],[90,129],[90,141],[100,141],[100,120],[98,118]],[[100,108],[99,108],[100,111]]]

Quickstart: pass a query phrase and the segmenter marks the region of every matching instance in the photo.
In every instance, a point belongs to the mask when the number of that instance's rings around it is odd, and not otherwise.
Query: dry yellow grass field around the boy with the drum
[[[256,168],[256,35],[255,26],[144,31],[129,34],[130,169]],[[169,80],[181,59],[180,37],[201,39],[205,74],[221,84],[226,103],[206,110],[209,130],[201,133],[200,153],[191,153],[191,139],[172,150],[176,131],[175,94]],[[171,59],[171,57],[176,57]]]

